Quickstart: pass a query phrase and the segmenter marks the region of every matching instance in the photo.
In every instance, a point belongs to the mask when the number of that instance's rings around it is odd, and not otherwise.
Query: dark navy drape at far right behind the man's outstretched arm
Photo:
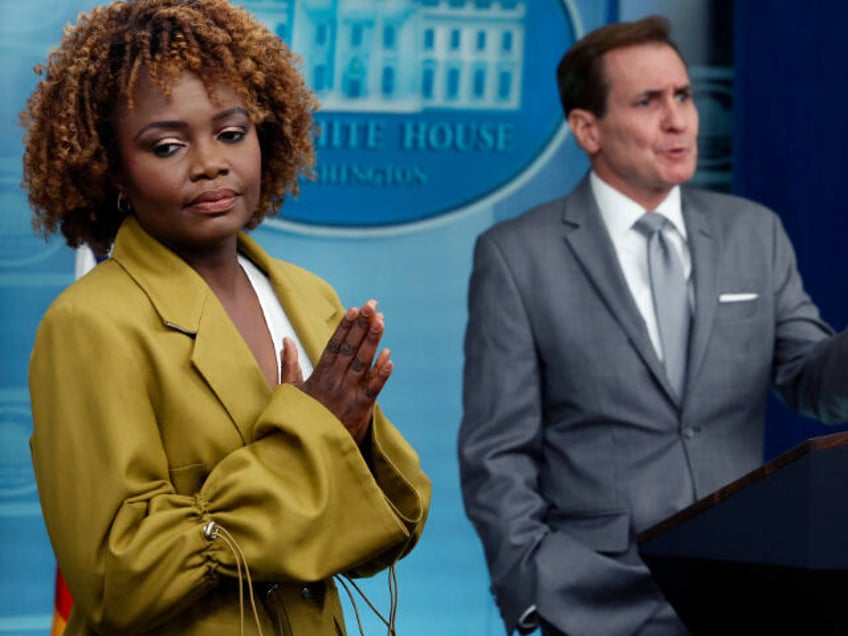
[[[735,5],[733,191],[781,216],[805,287],[837,330],[848,324],[846,24],[841,0]],[[835,430],[773,399],[766,457]]]

